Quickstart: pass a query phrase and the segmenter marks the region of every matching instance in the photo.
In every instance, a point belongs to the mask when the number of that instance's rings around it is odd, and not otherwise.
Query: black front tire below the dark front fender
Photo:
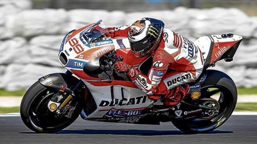
[[[72,114],[71,118],[67,119],[67,120],[60,120],[60,122],[62,122],[62,123],[60,125],[58,125],[58,123],[57,123],[57,126],[49,126],[50,125],[50,124],[48,124],[49,121],[46,122],[44,120],[41,120],[41,121],[39,120],[37,123],[35,123],[34,118],[32,118],[32,117],[34,117],[33,110],[35,109],[35,106],[37,106],[37,103],[38,103],[37,101],[39,101],[40,99],[43,99],[44,96],[42,96],[42,93],[44,93],[45,91],[51,91],[51,93],[57,92],[56,90],[53,90],[51,88],[44,87],[37,81],[27,90],[27,92],[23,96],[22,102],[20,104],[20,115],[21,115],[22,121],[29,129],[31,129],[32,131],[35,131],[37,133],[53,133],[53,132],[60,131],[64,128],[68,127],[70,124],[72,124],[78,118],[78,116],[82,110],[81,104],[78,104],[78,106],[76,106],[76,109],[74,110],[74,113]],[[50,99],[51,99],[51,97],[50,97]],[[41,114],[39,114],[39,115],[41,115]],[[48,120],[51,119],[51,117],[47,117],[47,118],[48,118]],[[36,118],[36,119],[38,119],[38,118]],[[53,118],[52,120],[54,120],[54,119],[55,118]],[[39,127],[38,125],[41,125],[41,126]]]

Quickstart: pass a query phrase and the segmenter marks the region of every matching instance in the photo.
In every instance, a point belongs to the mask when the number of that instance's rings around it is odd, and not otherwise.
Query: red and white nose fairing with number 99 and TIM
[[[101,40],[88,41],[83,37],[94,24],[69,32],[62,41],[58,59],[63,67],[83,79],[101,80],[99,77],[91,77],[83,72],[85,65],[99,59],[101,56],[117,49],[128,49],[128,38],[107,39],[101,35]],[[92,41],[93,40],[93,41]],[[88,43],[89,42],[89,43]]]

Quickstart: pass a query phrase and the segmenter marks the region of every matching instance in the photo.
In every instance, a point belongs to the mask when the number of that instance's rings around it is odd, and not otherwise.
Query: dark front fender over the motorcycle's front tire
[[[71,91],[67,86],[75,86],[79,79],[72,76],[71,74],[66,73],[53,73],[47,74],[41,78],[39,78],[39,83],[43,86],[54,88],[56,90],[60,90],[65,87],[65,91]]]

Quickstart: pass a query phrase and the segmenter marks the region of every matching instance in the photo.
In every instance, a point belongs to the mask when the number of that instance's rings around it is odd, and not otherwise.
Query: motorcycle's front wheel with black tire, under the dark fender
[[[24,124],[38,133],[53,133],[72,124],[79,116],[82,106],[78,103],[70,118],[58,117],[48,110],[47,104],[56,90],[46,88],[38,81],[25,93],[20,104],[20,115]],[[79,101],[78,101],[79,102]]]

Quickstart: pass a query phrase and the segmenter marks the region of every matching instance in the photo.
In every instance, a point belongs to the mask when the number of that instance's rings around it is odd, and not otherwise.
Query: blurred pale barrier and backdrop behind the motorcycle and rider
[[[57,56],[70,30],[99,19],[111,27],[142,17],[161,19],[192,41],[242,35],[234,61],[220,61],[212,69],[230,75],[238,87],[255,88],[256,7],[257,0],[0,0],[0,89],[25,90],[45,74],[64,72]]]

